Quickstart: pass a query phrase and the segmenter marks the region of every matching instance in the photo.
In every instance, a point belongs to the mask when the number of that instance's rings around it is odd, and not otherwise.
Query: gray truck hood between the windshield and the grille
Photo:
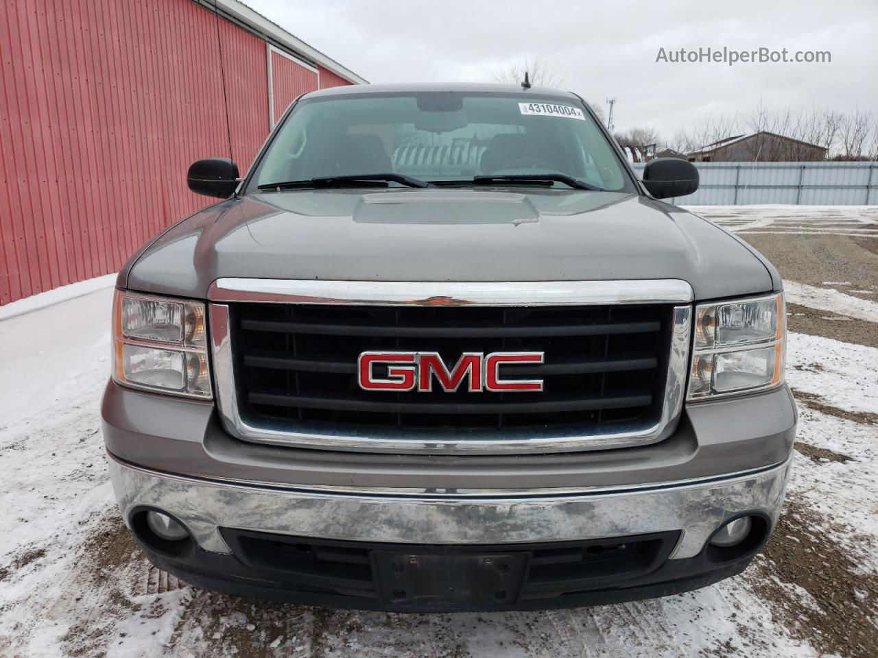
[[[683,279],[697,299],[780,287],[718,226],[648,197],[581,190],[295,190],[215,204],[119,273],[206,297],[220,277],[351,281]]]

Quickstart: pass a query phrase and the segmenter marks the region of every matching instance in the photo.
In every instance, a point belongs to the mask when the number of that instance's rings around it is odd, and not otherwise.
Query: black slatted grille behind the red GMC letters
[[[233,304],[235,371],[245,418],[357,429],[602,426],[657,419],[672,308],[533,308]],[[542,351],[543,364],[505,378],[543,379],[542,392],[361,390],[364,351]],[[382,375],[381,366],[375,366]]]

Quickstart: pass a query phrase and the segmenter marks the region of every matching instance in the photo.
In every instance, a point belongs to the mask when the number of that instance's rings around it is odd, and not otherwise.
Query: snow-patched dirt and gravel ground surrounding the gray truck
[[[570,611],[398,615],[227,597],[152,567],[112,503],[99,431],[109,291],[0,321],[0,346],[68,337],[0,368],[0,658],[44,656],[878,656],[878,209],[693,209],[738,232],[785,280],[800,410],[787,504],[741,576],[676,597]],[[833,300],[838,300],[836,304]],[[830,310],[819,306],[831,307]],[[853,312],[853,311],[852,311]],[[35,386],[35,384],[34,384]],[[45,396],[44,396],[45,397]]]

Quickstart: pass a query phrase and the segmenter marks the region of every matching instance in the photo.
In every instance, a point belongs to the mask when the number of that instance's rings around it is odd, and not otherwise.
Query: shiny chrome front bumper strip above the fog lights
[[[168,511],[198,545],[231,553],[220,527],[320,539],[408,544],[506,544],[682,531],[671,559],[693,557],[725,519],[781,509],[789,461],[745,474],[563,494],[459,496],[314,490],[176,476],[110,455],[126,524],[139,508]]]

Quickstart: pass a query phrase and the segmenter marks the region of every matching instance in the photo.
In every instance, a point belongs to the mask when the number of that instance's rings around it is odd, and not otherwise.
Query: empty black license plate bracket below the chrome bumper
[[[491,608],[515,605],[529,551],[508,553],[372,551],[372,573],[387,608]]]

